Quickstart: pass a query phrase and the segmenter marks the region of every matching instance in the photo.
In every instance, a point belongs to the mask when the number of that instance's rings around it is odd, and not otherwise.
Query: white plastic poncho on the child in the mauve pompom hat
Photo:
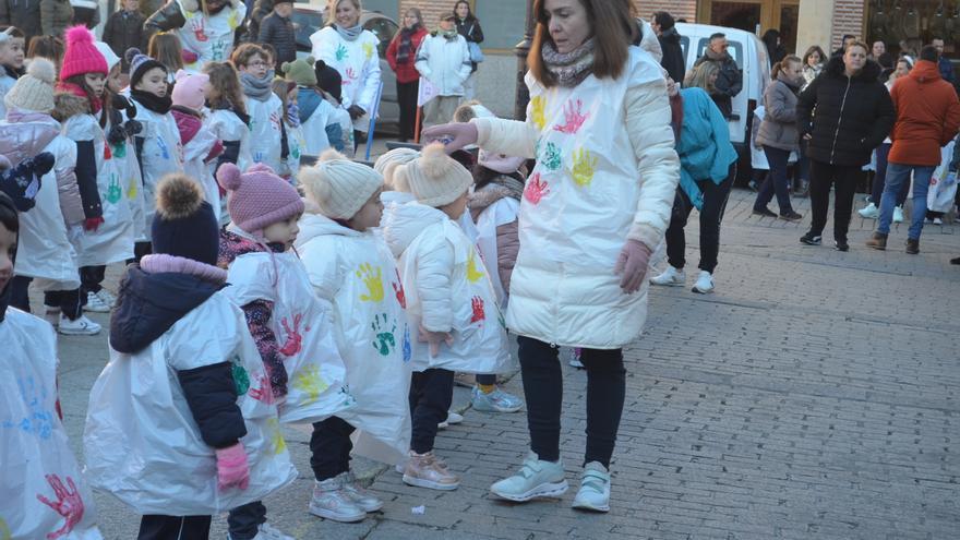
[[[233,232],[238,232],[231,227]],[[273,303],[271,329],[287,369],[281,422],[319,422],[355,405],[331,325],[329,303],[313,295],[296,253],[245,253],[228,268],[224,289],[238,307]]]

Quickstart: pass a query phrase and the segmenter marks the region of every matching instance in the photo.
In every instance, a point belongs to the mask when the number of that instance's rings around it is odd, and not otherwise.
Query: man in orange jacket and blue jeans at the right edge
[[[890,132],[893,146],[887,165],[880,219],[877,230],[866,244],[875,250],[887,249],[887,235],[897,204],[897,192],[913,173],[913,211],[907,236],[907,253],[920,253],[920,232],[926,216],[926,192],[934,169],[940,164],[940,147],[960,130],[960,100],[953,86],[940,77],[937,49],[927,45],[920,60],[905,77],[897,80],[890,91],[897,109],[897,122]]]

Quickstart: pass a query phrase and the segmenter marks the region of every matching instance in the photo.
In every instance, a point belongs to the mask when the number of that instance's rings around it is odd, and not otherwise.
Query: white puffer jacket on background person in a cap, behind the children
[[[464,36],[447,39],[427,36],[417,49],[415,64],[420,76],[430,81],[441,96],[463,96],[464,81],[470,76],[470,49]]]

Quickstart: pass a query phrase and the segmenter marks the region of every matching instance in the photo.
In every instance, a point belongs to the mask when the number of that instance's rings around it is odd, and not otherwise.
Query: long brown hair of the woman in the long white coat
[[[616,79],[623,74],[629,58],[628,44],[637,40],[639,28],[632,16],[629,0],[579,0],[587,11],[587,20],[593,29],[593,76],[597,79]],[[537,29],[533,32],[533,46],[527,55],[530,73],[548,88],[556,85],[556,77],[547,70],[543,63],[543,44],[552,41],[550,37],[550,17],[547,15],[547,0],[533,2],[533,16]]]

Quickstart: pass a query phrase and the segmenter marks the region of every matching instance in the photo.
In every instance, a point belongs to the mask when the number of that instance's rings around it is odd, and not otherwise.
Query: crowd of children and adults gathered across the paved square
[[[728,119],[743,86],[725,36],[687,70],[668,13],[647,23],[627,0],[538,0],[528,113],[515,121],[466,99],[482,61],[469,4],[433,34],[409,10],[387,57],[404,74],[401,101],[416,101],[420,77],[436,88],[422,133],[433,143],[368,167],[351,156],[380,67],[360,1],[331,0],[305,59],[271,43],[287,39],[292,5],[268,3],[247,26],[265,43],[236,40],[247,8],[227,0],[148,16],[125,0],[107,25],[115,43],[76,25],[62,41],[37,34],[26,55],[28,34],[0,28],[0,363],[11,374],[0,384],[12,396],[0,431],[15,460],[4,469],[19,471],[0,480],[16,485],[0,530],[99,538],[95,488],[142,515],[141,539],[205,539],[219,513],[233,540],[288,539],[262,503],[297,475],[286,423],[312,424],[319,517],[352,523],[383,507],[352,455],[396,466],[411,487],[456,490],[434,453],[454,421],[456,373],[476,375],[478,410],[526,401],[530,453],[491,493],[556,497],[569,488],[560,347],[587,377],[573,507],[608,512],[623,347],[643,329],[649,285],[685,285],[694,208],[693,290],[715,290],[737,164]],[[855,39],[829,59],[782,52],[758,109],[753,144],[769,175],[755,212],[799,220],[789,167],[806,163],[813,219],[801,241],[820,243],[832,190],[847,251],[854,178],[876,151],[888,175],[877,175],[867,245],[886,248],[912,176],[907,252],[917,253],[929,179],[960,130],[936,44],[901,58],[886,87],[868,58],[885,51]],[[304,154],[320,157],[301,167]],[[775,194],[779,214],[767,208]],[[648,276],[661,242],[669,266]],[[115,295],[104,281],[117,263],[128,266]],[[46,322],[29,314],[32,286]],[[91,391],[81,472],[57,399],[55,328],[98,334],[85,311],[109,313],[110,360]],[[507,329],[519,336],[523,399],[497,385],[516,368]]]

